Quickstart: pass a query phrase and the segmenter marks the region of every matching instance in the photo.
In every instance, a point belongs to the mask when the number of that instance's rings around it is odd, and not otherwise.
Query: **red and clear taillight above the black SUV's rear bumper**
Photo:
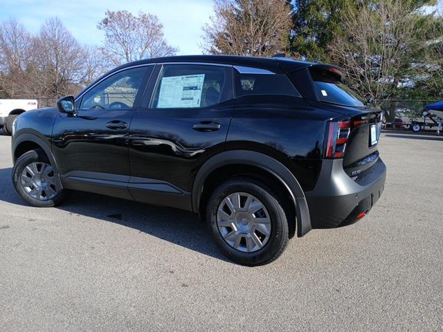
[[[350,121],[329,122],[326,142],[326,158],[342,158],[351,132]]]

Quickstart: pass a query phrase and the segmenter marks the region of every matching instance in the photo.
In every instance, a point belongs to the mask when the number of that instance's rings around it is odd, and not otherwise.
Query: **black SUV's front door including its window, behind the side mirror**
[[[111,73],[76,100],[74,116],[57,117],[53,154],[65,187],[102,192],[102,186],[111,196],[131,197],[126,187],[129,126],[153,68],[135,66]]]

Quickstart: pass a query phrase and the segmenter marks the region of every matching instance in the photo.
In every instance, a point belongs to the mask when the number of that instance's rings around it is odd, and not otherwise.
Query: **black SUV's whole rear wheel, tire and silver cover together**
[[[235,195],[237,194],[239,195],[239,198],[235,199]],[[260,206],[259,203],[262,203],[264,208],[257,210],[257,212],[252,215],[246,214],[244,218],[242,218],[242,214],[245,214],[246,212],[230,212],[233,216],[232,220],[240,221],[234,222],[233,226],[235,226],[235,228],[229,226],[223,227],[221,225],[228,224],[231,219],[229,219],[229,221],[222,220],[226,218],[227,214],[222,216],[220,213],[223,212],[219,212],[219,208],[226,210],[226,204],[224,202],[226,202],[226,199],[228,199],[230,195],[231,197],[234,197],[231,201],[242,202],[233,204],[238,206],[238,210],[242,210],[242,206],[243,209],[246,208],[250,196],[253,197],[253,203],[249,203],[248,205],[254,205],[251,210],[257,209],[257,207]],[[269,190],[266,185],[248,178],[234,178],[217,187],[217,189],[211,194],[208,208],[206,209],[206,220],[209,223],[210,232],[217,247],[224,253],[224,255],[233,261],[246,266],[260,266],[275,261],[275,259],[282,255],[289,241],[287,216],[284,212],[284,204],[281,203],[282,201],[283,200],[279,199],[279,197]],[[260,215],[257,216],[257,214]],[[266,220],[266,218],[263,217],[266,215],[268,216],[268,219],[270,219],[270,223],[268,221],[266,221],[266,224],[264,225],[257,225],[254,223],[255,220],[258,220],[257,218],[260,218],[260,220]],[[247,220],[245,221],[245,219]],[[245,222],[247,225],[244,224]],[[257,228],[258,226],[260,226],[262,232]],[[245,230],[244,228],[247,229]],[[236,229],[237,231],[235,232]],[[250,232],[249,230],[254,231]],[[240,236],[242,239],[238,241],[239,236],[237,235],[236,237],[235,234],[243,231],[245,233],[239,233],[241,234]],[[269,235],[266,235],[266,232],[268,232]],[[259,236],[260,241],[257,241]],[[234,237],[235,240],[228,241],[228,239],[231,239],[232,237]],[[241,244],[242,242],[243,244]],[[250,243],[252,243],[251,246]],[[262,247],[257,243],[262,243]],[[238,248],[235,248],[236,245]]]

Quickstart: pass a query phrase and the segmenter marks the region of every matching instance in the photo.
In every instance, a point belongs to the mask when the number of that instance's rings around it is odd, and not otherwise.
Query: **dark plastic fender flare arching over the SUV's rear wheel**
[[[250,150],[224,151],[206,160],[197,172],[192,185],[192,209],[195,212],[199,211],[199,203],[206,178],[215,169],[230,164],[251,165],[260,167],[266,172],[271,172],[291,193],[291,201],[293,201],[297,216],[297,236],[302,237],[312,229],[305,193],[296,177],[278,160]]]

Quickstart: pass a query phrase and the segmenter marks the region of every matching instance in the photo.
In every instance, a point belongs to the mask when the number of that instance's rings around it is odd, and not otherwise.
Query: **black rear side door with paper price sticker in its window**
[[[234,107],[232,66],[158,64],[130,131],[129,191],[190,209],[199,167],[224,149]]]

